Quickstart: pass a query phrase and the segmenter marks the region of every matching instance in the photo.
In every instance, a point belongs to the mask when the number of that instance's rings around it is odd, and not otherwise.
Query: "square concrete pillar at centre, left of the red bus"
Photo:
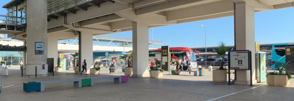
[[[148,73],[148,24],[133,22],[133,75],[149,76]]]

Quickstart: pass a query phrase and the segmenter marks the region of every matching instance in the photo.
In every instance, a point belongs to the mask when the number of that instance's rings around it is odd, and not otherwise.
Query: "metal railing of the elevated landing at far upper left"
[[[26,17],[26,15],[24,17]],[[0,15],[0,29],[16,30],[18,25],[22,25],[26,22],[24,17]]]

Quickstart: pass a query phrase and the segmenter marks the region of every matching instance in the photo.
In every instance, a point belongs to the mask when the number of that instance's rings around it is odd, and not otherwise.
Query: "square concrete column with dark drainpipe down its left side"
[[[81,44],[79,44],[81,49],[81,53],[79,53],[81,54],[81,57],[79,57],[81,60],[79,66],[81,67],[82,71],[83,62],[86,60],[87,74],[90,74],[90,68],[93,68],[93,33],[81,32],[81,39],[78,41],[81,42]],[[83,73],[85,73],[85,71]]]

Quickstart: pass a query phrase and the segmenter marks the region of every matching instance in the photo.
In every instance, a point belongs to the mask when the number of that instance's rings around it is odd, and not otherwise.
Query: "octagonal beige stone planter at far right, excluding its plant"
[[[290,85],[290,80],[287,75],[267,75],[266,83],[269,86],[285,87]]]

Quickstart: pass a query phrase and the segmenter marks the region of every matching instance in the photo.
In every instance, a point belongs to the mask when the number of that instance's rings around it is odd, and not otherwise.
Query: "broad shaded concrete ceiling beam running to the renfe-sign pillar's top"
[[[220,13],[228,13],[234,11],[234,3],[232,0],[223,0],[208,4],[192,6],[173,11],[167,11],[167,21],[185,20],[190,18],[215,15]]]

